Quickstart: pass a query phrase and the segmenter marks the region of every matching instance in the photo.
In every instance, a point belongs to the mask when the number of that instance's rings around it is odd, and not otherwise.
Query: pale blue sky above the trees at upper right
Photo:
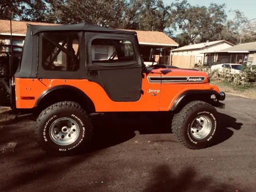
[[[164,4],[171,4],[175,0],[163,0]],[[191,5],[209,6],[211,2],[222,4],[226,3],[228,18],[232,19],[234,15],[228,13],[228,10],[240,10],[250,19],[256,18],[256,1],[255,0],[188,0]]]

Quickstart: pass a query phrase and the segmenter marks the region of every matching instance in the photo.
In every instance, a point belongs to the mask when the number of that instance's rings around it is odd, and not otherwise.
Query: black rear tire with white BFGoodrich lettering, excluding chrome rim
[[[50,136],[50,128],[54,121],[60,118],[70,118],[78,124],[78,138],[68,145],[59,145]],[[86,150],[92,138],[92,124],[90,116],[75,102],[58,102],[43,110],[36,120],[36,142],[49,153],[73,154]]]

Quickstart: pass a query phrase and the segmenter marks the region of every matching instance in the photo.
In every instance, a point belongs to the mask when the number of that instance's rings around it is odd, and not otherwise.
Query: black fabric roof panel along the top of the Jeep
[[[134,31],[118,30],[106,27],[100,27],[88,23],[78,23],[71,25],[31,25],[27,24],[28,30],[32,32],[32,35],[37,34],[38,32],[47,32],[47,31],[90,31],[90,32],[110,32],[115,34],[136,34]]]

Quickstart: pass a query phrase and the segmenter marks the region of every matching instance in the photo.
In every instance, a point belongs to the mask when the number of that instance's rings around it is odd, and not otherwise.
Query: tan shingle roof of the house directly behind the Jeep
[[[25,36],[27,31],[26,24],[32,25],[43,25],[43,26],[54,26],[60,24],[52,23],[41,23],[41,22],[27,22],[27,21],[12,21],[12,33],[16,35]],[[166,34],[160,31],[138,31],[138,30],[128,30],[137,32],[138,41],[142,45],[155,45],[155,46],[178,46],[174,40],[168,37]],[[0,20],[0,34],[10,33],[10,21]]]

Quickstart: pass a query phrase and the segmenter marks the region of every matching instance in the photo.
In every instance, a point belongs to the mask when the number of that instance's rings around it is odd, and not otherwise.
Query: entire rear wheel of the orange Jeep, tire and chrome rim
[[[85,150],[92,137],[90,117],[75,102],[59,102],[46,108],[36,120],[35,138],[47,152]]]

